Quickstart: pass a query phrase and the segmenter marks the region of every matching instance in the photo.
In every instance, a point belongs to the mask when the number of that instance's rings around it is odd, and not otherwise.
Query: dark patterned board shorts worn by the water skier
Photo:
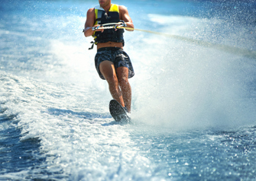
[[[113,62],[115,69],[118,67],[127,67],[129,69],[128,78],[132,78],[134,76],[134,70],[128,54],[121,48],[105,47],[98,49],[95,56],[96,70],[98,71],[99,77],[103,80],[105,80],[105,78],[99,71],[99,64],[105,60]]]

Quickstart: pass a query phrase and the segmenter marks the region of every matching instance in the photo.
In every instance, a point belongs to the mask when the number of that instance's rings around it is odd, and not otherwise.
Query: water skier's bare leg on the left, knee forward
[[[120,88],[118,86],[118,78],[115,73],[114,64],[107,60],[103,61],[99,65],[99,70],[109,84],[109,91],[113,99],[117,100],[118,103],[120,103],[122,106],[125,106],[125,103],[122,97],[122,91],[120,91]]]

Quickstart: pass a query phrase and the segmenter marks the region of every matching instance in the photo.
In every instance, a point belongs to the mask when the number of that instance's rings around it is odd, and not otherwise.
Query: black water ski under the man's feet
[[[128,122],[130,118],[124,107],[116,100],[110,100],[109,112],[116,122]]]

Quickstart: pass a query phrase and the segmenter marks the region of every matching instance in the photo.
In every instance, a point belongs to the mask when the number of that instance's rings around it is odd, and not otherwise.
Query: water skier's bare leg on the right
[[[118,67],[116,68],[116,74],[118,76],[118,83],[122,91],[122,97],[127,107],[128,113],[131,113],[131,85],[128,81],[128,68]]]

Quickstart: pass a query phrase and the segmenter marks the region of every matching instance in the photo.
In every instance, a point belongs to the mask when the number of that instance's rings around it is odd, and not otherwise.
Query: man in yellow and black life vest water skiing
[[[113,99],[131,113],[131,86],[128,78],[134,76],[134,70],[129,56],[123,50],[124,29],[97,29],[100,24],[120,21],[124,22],[125,27],[131,28],[126,30],[133,30],[134,24],[125,6],[114,5],[111,0],[99,0],[99,5],[87,11],[84,35],[94,37],[97,45],[95,65],[99,77],[108,82]]]

